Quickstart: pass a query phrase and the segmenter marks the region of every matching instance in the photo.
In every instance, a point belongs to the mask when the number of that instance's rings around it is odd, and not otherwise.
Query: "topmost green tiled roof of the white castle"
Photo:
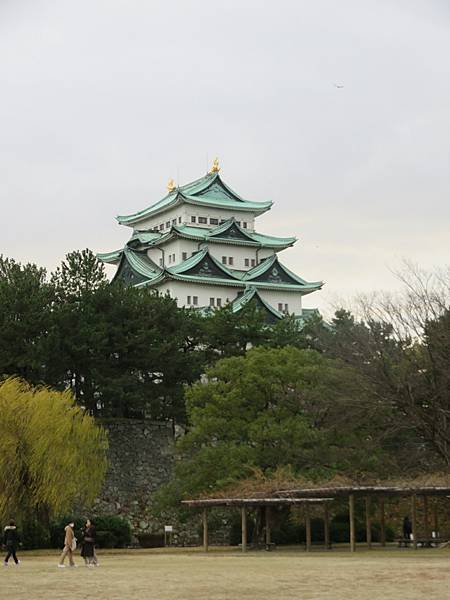
[[[229,208],[237,211],[261,214],[272,206],[272,202],[250,202],[244,200],[220,178],[218,173],[208,173],[186,185],[176,188],[148,208],[131,215],[121,215],[117,220],[122,225],[132,225],[149,216],[164,212],[183,202],[196,206]]]

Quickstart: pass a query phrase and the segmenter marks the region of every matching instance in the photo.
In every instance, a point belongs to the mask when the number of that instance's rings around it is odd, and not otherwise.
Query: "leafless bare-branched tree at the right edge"
[[[404,261],[396,294],[358,298],[359,312],[376,338],[380,323],[390,326],[401,360],[383,369],[392,402],[411,428],[450,464],[450,269],[432,272]],[[383,344],[380,362],[389,360]]]

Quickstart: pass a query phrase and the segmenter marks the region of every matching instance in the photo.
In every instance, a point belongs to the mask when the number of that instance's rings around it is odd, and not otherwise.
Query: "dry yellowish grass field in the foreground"
[[[101,565],[58,569],[56,553],[23,553],[0,571],[5,600],[400,600],[447,598],[450,551],[99,553]]]

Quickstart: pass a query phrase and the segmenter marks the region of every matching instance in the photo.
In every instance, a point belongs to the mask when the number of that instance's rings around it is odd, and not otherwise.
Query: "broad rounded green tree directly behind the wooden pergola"
[[[253,469],[360,476],[392,467],[383,446],[389,407],[352,368],[316,351],[254,348],[219,361],[186,396],[189,429],[166,499],[223,487]]]

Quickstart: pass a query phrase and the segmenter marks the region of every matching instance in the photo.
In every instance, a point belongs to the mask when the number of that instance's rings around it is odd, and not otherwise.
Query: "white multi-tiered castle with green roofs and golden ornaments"
[[[117,265],[114,279],[169,293],[180,307],[218,308],[233,312],[248,303],[266,313],[269,322],[294,314],[306,320],[314,309],[302,308],[302,297],[322,287],[284,266],[278,253],[295,237],[274,237],[255,230],[259,215],[272,202],[251,202],[234,192],[219,175],[215,159],[200,179],[176,186],[148,208],[117,217],[133,229],[124,248],[98,254]]]

